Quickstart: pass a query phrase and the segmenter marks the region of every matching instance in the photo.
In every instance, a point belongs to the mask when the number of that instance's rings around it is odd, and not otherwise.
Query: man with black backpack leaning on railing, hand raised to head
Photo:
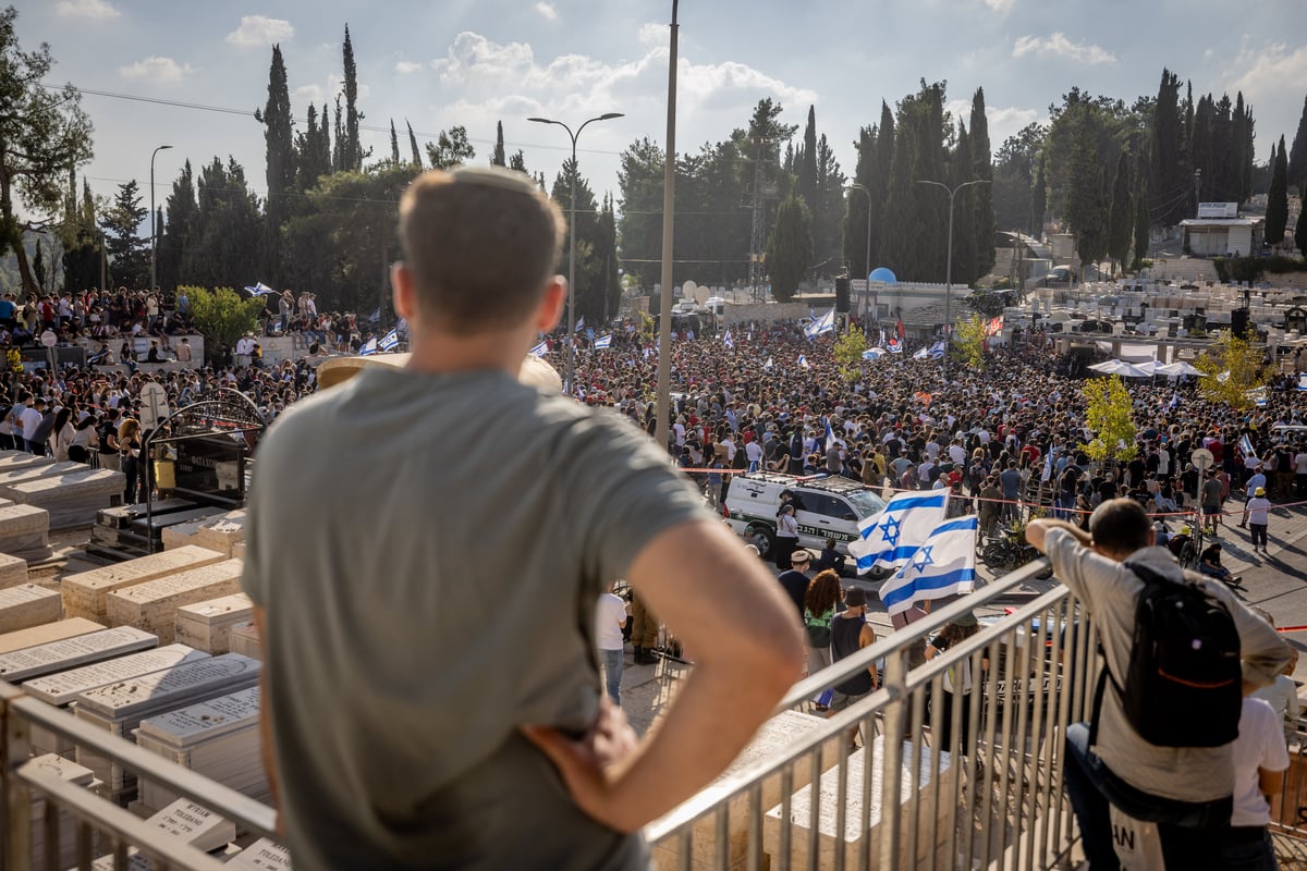
[[[1103,671],[1093,720],[1067,729],[1067,795],[1093,871],[1117,868],[1110,807],[1155,823],[1167,868],[1212,868],[1230,832],[1242,682],[1289,662],[1276,631],[1216,580],[1180,569],[1132,499],[1089,533],[1034,520],[1027,541],[1081,599]]]

